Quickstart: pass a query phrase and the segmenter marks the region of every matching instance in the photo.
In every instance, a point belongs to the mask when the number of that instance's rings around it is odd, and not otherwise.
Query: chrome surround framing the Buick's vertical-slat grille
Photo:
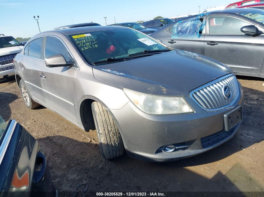
[[[237,101],[237,98],[241,95],[241,92],[240,92],[240,88],[239,88],[238,83],[236,84],[236,85],[237,85],[237,88],[238,88],[237,96],[234,98],[234,100],[233,100],[229,105],[226,105],[226,106],[222,106],[222,107],[218,107],[218,108],[214,108],[214,109],[206,109],[206,108],[204,108],[203,106],[201,106],[200,103],[198,103],[198,102],[196,101],[196,99],[192,96],[194,92],[196,92],[196,91],[198,91],[198,90],[201,90],[201,89],[203,89],[203,88],[205,88],[205,87],[211,86],[212,84],[215,84],[215,83],[217,83],[217,82],[220,82],[220,81],[222,81],[223,79],[228,78],[228,77],[231,77],[231,76],[235,76],[235,75],[234,75],[233,73],[231,73],[231,74],[227,74],[227,75],[225,75],[225,76],[223,76],[223,77],[220,77],[220,78],[217,78],[217,79],[213,80],[212,82],[206,83],[206,84],[204,84],[204,85],[202,85],[202,86],[200,86],[200,87],[195,88],[194,90],[190,91],[190,97],[192,98],[192,100],[193,100],[194,102],[196,102],[196,104],[197,104],[198,106],[200,106],[200,107],[201,107],[203,110],[205,110],[205,111],[218,111],[218,110],[222,110],[222,109],[225,109],[225,108],[227,108],[227,107],[232,106],[232,105]],[[236,77],[236,76],[235,76],[235,77]],[[237,77],[236,77],[236,78],[237,78]]]

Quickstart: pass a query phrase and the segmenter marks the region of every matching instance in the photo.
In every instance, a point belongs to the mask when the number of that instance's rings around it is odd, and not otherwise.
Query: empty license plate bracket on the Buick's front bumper
[[[232,111],[224,114],[225,131],[229,131],[242,120],[242,108],[237,106]]]

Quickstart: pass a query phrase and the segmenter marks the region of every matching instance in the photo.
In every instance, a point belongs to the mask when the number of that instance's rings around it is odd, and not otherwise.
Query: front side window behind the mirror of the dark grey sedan
[[[210,16],[210,34],[244,34],[240,31],[241,27],[251,25],[247,22],[227,16]]]

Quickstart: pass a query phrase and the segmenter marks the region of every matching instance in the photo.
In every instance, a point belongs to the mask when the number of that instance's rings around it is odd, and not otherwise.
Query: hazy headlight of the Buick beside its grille
[[[183,114],[193,112],[183,97],[154,96],[123,89],[132,103],[147,114]]]

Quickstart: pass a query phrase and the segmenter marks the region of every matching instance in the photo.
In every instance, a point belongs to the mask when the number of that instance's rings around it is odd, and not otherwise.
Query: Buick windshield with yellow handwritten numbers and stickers
[[[168,50],[165,45],[132,29],[112,29],[68,35],[88,63],[128,58],[145,51]]]

